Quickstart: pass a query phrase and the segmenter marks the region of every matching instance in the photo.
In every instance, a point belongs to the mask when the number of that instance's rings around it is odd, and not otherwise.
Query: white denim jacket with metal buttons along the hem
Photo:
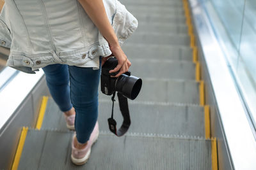
[[[122,45],[138,20],[117,0],[103,3]],[[111,55],[108,42],[77,0],[6,0],[0,42],[10,48],[6,66],[26,73],[49,64],[79,66]]]

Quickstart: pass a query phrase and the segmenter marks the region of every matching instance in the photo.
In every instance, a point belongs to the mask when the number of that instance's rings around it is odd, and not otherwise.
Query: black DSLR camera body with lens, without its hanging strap
[[[115,57],[110,57],[102,66],[100,81],[101,91],[106,95],[112,95],[114,92],[119,92],[129,99],[135,99],[140,93],[142,80],[136,76],[131,76],[131,72],[121,74],[118,78],[113,78],[118,73],[109,73],[111,69],[115,69],[118,60]]]

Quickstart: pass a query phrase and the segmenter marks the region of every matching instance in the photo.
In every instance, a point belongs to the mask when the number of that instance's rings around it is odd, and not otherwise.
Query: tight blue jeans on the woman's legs
[[[77,141],[86,143],[98,118],[101,69],[52,64],[43,67],[43,70],[52,98],[60,110],[68,111],[74,106]]]

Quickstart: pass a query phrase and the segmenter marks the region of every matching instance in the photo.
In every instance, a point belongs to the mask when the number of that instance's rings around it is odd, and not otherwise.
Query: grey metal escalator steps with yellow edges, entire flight
[[[52,98],[44,97],[36,129],[22,130],[13,169],[217,169],[188,3],[122,3],[139,21],[123,50],[132,74],[143,79],[140,95],[129,101],[129,131],[121,138],[111,134],[111,97],[99,92],[100,136],[88,162],[75,166],[70,160],[73,132]],[[117,102],[114,117],[120,127]]]

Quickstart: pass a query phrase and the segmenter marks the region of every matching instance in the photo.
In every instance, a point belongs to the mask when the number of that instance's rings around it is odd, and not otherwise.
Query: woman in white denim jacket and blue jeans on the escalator
[[[6,0],[0,20],[1,45],[10,47],[6,65],[26,73],[43,68],[67,127],[76,129],[74,164],[88,160],[99,135],[100,65],[115,56],[118,66],[109,73],[128,71],[120,44],[137,26],[117,0]]]

